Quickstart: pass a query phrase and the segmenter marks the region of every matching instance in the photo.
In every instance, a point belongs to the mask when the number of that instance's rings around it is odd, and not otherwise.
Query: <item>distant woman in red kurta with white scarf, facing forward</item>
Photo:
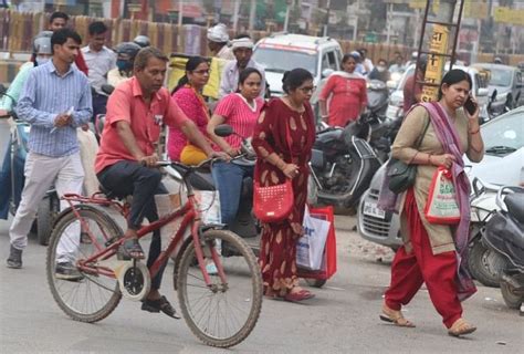
[[[355,58],[344,55],[342,66],[344,71],[334,72],[327,79],[318,97],[322,119],[332,126],[346,126],[356,121],[367,105],[366,80],[355,73]]]

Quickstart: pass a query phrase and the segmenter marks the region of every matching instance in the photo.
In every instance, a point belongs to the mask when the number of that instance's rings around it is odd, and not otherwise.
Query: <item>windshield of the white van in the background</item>
[[[316,76],[316,54],[260,46],[253,53],[253,60],[265,71],[284,73],[295,67],[303,67],[313,76]]]

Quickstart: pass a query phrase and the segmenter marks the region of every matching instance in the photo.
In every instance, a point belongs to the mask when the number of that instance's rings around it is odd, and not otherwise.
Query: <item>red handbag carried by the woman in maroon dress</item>
[[[291,154],[291,135],[285,125],[287,147]],[[293,210],[293,184],[290,178],[285,183],[262,187],[258,181],[253,189],[253,212],[262,222],[279,222],[287,218]]]

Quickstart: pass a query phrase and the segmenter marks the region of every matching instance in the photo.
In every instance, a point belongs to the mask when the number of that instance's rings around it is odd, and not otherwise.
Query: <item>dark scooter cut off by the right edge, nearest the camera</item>
[[[496,205],[500,210],[485,225],[482,242],[505,262],[500,282],[504,302],[524,315],[524,188],[502,187]]]

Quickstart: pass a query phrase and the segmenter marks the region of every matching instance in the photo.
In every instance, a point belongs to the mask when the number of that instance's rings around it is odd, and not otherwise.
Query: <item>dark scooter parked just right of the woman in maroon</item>
[[[353,134],[350,126],[340,128],[321,123],[311,166],[319,204],[355,208],[380,162],[371,146]]]

